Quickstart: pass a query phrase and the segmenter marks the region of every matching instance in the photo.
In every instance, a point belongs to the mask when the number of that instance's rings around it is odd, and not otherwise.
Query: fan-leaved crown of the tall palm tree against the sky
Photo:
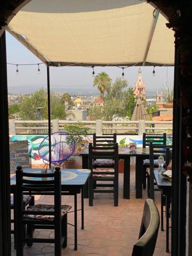
[[[104,94],[104,92],[111,86],[112,79],[109,77],[108,74],[101,71],[93,81],[93,86],[97,86],[97,89],[100,91],[101,95]]]

